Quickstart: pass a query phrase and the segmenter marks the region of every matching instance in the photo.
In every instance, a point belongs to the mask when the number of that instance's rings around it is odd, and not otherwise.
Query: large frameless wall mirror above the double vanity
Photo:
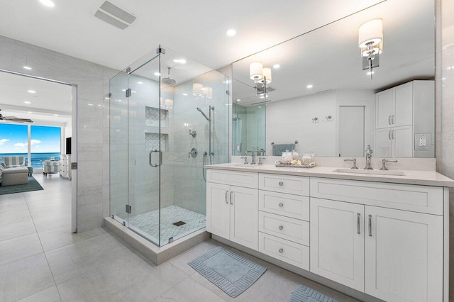
[[[369,70],[362,69],[358,28],[375,18],[383,20],[383,41],[380,65],[372,69],[370,79]],[[271,68],[272,81],[262,99],[264,94],[256,91],[250,79],[253,62]],[[243,138],[265,136],[267,155],[273,155],[272,142],[282,145],[298,140],[295,150],[317,156],[362,157],[371,145],[377,157],[434,157],[434,78],[434,2],[388,0],[234,62],[233,103],[246,110],[266,105],[262,133]],[[410,96],[409,101],[397,104],[394,87],[414,80],[431,83],[432,88],[423,94],[409,88],[413,99]],[[252,90],[246,98],[245,87]],[[379,123],[383,113],[376,99],[377,93],[384,94],[381,91],[389,92],[392,107],[386,113],[386,127]],[[418,98],[423,98],[422,106],[416,106]],[[404,129],[394,124],[397,110],[409,117],[405,131],[399,132]],[[233,133],[238,131],[235,127],[233,123]],[[242,144],[258,147],[255,142]],[[404,152],[399,151],[402,145]]]

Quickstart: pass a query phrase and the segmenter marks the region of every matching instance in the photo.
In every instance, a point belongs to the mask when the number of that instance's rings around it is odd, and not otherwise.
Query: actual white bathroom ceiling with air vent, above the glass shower
[[[120,30],[93,16],[104,0],[53,1],[0,0],[0,35],[114,69],[159,44],[216,69],[380,2],[111,0],[137,17]],[[227,37],[228,28],[237,35]]]

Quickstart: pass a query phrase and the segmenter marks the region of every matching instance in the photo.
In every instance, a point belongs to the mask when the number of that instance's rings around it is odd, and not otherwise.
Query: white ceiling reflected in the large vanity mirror
[[[404,12],[404,13],[403,13]],[[248,106],[255,96],[249,65],[263,62],[272,69],[276,89],[267,100],[280,101],[336,89],[383,90],[412,79],[435,75],[435,7],[433,0],[389,0],[277,45],[233,64],[233,98]],[[372,18],[383,19],[383,52],[373,79],[362,70],[358,28]],[[314,85],[307,89],[308,84]]]

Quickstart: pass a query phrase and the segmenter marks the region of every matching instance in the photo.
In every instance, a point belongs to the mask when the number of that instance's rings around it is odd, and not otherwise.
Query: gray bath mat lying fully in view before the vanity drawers
[[[267,270],[226,247],[216,247],[188,264],[232,298],[243,293]]]

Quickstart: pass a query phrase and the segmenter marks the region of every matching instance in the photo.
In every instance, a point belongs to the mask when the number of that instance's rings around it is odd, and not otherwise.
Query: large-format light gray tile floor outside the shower
[[[356,301],[239,251],[267,272],[233,299],[187,264],[219,242],[203,242],[156,267],[102,228],[70,233],[70,181],[35,178],[43,191],[0,196],[1,302],[284,302],[298,284]]]

